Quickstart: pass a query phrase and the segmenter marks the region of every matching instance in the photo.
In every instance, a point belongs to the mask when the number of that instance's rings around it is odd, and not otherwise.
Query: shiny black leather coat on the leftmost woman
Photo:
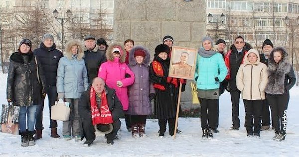
[[[38,69],[33,53],[15,52],[10,56],[7,76],[6,98],[11,99],[15,106],[30,106],[40,104],[44,92],[44,77],[42,69]],[[38,64],[40,66],[40,64]]]

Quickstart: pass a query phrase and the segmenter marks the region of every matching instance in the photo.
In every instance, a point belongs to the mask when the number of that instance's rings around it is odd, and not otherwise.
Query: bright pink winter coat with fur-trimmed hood
[[[121,50],[121,57],[114,58],[112,56],[112,49],[118,47]],[[126,53],[120,45],[109,46],[106,57],[107,62],[100,66],[98,77],[105,80],[105,83],[116,90],[116,95],[120,99],[124,110],[129,108],[128,86],[133,84],[135,76],[134,73],[125,63]],[[126,75],[127,74],[127,75]],[[123,83],[122,87],[118,87],[116,82],[120,80]]]

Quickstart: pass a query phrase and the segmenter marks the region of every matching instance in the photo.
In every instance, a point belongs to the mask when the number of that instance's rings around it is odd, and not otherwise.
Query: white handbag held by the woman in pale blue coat
[[[68,121],[70,118],[71,109],[67,106],[68,102],[64,102],[62,99],[59,99],[51,106],[51,119],[52,120],[61,120]]]

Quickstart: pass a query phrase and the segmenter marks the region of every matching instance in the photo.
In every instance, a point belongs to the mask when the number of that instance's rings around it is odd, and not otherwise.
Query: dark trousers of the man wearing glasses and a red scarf
[[[233,126],[240,128],[240,119],[239,119],[240,93],[237,91],[231,91],[230,95],[232,101]]]

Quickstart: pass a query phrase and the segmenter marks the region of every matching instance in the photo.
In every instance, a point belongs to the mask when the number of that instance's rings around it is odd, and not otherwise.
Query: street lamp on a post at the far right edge
[[[296,19],[291,19],[290,17],[286,16],[285,17],[285,23],[286,25],[289,27],[290,31],[291,31],[291,39],[292,39],[292,45],[291,45],[291,60],[292,60],[292,66],[294,66],[293,64],[293,59],[294,59],[294,33],[295,30],[298,25],[299,25],[299,16]]]

